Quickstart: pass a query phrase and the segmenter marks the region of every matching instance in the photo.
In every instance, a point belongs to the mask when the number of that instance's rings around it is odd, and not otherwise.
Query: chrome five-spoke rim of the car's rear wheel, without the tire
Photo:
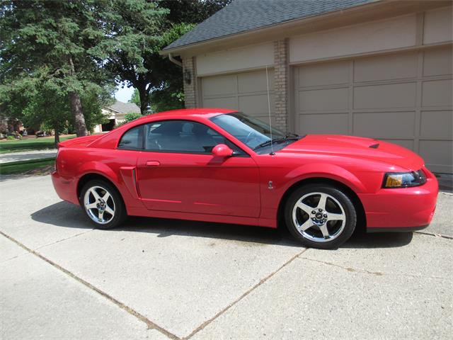
[[[115,217],[115,202],[112,195],[101,186],[88,188],[84,196],[84,206],[94,222],[106,225]]]

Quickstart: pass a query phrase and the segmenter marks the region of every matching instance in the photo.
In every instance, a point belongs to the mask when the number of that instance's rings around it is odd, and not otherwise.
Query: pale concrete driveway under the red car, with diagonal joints
[[[238,225],[94,230],[49,176],[0,193],[1,339],[451,339],[451,194],[423,233],[321,251]]]

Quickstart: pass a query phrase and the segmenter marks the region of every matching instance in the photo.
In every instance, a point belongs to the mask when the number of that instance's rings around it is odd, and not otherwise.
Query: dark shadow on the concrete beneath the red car
[[[67,202],[59,202],[33,212],[32,220],[58,227],[93,229],[81,209]],[[278,229],[249,225],[230,225],[213,222],[172,220],[154,217],[129,217],[121,227],[105,232],[147,232],[157,237],[188,236],[226,239],[248,244],[274,244],[300,247],[286,228]],[[405,246],[412,239],[412,233],[365,234],[356,232],[342,248],[389,248]]]

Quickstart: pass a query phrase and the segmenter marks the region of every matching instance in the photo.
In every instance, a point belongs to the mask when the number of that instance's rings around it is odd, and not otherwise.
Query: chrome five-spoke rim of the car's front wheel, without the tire
[[[343,206],[327,193],[307,193],[294,204],[292,221],[302,237],[313,242],[330,242],[346,225]]]

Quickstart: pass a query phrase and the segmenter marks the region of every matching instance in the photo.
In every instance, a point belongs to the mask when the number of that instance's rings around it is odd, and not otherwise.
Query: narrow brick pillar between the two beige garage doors
[[[288,53],[287,39],[274,42],[274,93],[275,125],[277,129],[288,129]]]

